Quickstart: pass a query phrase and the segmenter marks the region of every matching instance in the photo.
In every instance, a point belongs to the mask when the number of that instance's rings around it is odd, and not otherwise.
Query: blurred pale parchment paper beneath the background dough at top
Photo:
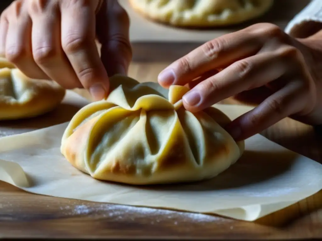
[[[128,0],[119,0],[130,18],[130,40],[137,42],[206,42],[223,34],[237,31],[257,22],[271,22],[285,29],[288,22],[299,13],[310,0],[275,0],[273,7],[260,18],[243,24],[208,30],[182,29],[148,21],[133,10]]]

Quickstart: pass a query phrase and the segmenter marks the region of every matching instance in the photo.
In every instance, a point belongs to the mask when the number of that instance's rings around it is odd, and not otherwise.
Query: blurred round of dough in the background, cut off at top
[[[129,0],[145,17],[174,26],[231,25],[259,17],[273,0]]]

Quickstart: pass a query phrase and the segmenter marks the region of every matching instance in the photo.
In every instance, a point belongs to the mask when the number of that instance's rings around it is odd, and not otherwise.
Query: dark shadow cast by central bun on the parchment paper
[[[203,192],[211,190],[235,189],[251,184],[258,184],[277,177],[290,169],[297,154],[289,152],[255,152],[245,151],[243,156],[213,179],[180,184],[160,184],[139,186],[140,189],[154,191],[193,191]],[[272,165],[279,160],[279,165]],[[126,185],[126,184],[121,184]],[[196,193],[197,194],[197,193]]]

